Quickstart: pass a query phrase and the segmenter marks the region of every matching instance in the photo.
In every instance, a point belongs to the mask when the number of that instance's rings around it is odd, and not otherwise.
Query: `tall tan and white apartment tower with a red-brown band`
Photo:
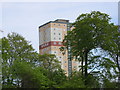
[[[68,51],[63,55],[59,49],[63,46],[62,41],[68,30],[71,30],[69,20],[64,19],[57,19],[39,26],[39,53],[55,54],[66,75],[71,72],[71,69],[78,69],[76,61],[69,61]]]

